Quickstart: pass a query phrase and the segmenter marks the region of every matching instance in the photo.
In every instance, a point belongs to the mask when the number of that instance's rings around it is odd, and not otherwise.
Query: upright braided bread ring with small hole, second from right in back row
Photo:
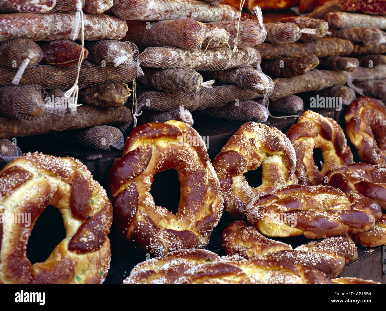
[[[339,124],[330,118],[307,110],[291,126],[287,136],[296,152],[296,176],[299,184],[320,185],[324,174],[337,165],[352,163],[352,153]],[[320,148],[322,170],[314,163],[313,150]]]

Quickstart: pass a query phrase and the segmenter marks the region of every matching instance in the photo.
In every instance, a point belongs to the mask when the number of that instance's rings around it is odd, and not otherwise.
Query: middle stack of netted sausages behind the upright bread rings
[[[264,41],[264,26],[254,19],[239,24],[237,9],[214,2],[114,1],[110,12],[127,20],[124,41],[142,51],[133,107],[141,114],[138,124],[178,115],[185,121],[186,114],[206,108],[223,117],[215,109],[228,103],[234,106],[232,119],[266,120],[267,110],[251,102],[273,91],[253,48]]]

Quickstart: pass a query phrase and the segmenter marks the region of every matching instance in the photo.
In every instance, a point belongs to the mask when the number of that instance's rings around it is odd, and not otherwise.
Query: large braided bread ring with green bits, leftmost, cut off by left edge
[[[48,205],[61,212],[66,238],[45,262],[31,265],[26,256],[28,238]],[[15,159],[0,171],[0,212],[5,219],[29,213],[32,224],[0,222],[0,283],[104,282],[111,258],[107,234],[112,205],[80,161],[42,153]]]

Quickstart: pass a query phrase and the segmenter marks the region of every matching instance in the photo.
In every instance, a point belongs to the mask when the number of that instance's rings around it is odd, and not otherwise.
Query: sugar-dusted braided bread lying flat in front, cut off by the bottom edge
[[[311,267],[181,250],[139,263],[124,284],[332,284]]]

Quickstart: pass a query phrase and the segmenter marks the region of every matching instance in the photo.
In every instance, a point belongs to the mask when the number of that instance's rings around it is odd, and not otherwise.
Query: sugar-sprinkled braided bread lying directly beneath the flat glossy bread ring
[[[327,277],[337,277],[345,263],[358,258],[355,243],[349,236],[311,241],[293,250],[291,245],[266,238],[244,221],[235,221],[224,229],[222,247],[226,255],[308,265]]]

